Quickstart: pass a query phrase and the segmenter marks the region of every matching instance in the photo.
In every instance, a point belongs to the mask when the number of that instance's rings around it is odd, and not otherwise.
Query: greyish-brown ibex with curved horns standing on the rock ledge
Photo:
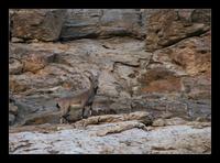
[[[81,117],[84,118],[85,109],[86,107],[89,107],[89,111],[91,115],[92,102],[98,89],[99,74],[97,77],[95,77],[90,72],[88,73],[90,74],[90,76],[88,77],[90,82],[89,89],[84,89],[80,93],[73,95],[72,97],[64,97],[57,100],[56,106],[61,109],[61,123],[64,122],[63,120],[68,121],[66,118],[68,117],[70,109],[82,109]]]

